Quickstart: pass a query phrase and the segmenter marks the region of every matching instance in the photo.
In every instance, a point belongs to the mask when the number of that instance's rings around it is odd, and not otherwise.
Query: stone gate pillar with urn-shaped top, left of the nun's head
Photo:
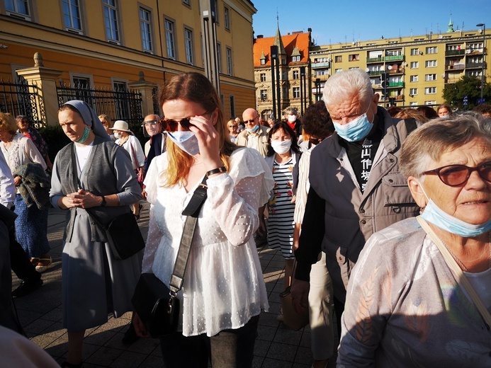
[[[29,82],[29,88],[35,88],[32,86],[33,84],[37,86],[37,105],[40,113],[44,106],[44,114],[40,114],[43,124],[57,125],[58,96],[56,93],[56,82],[62,75],[62,71],[44,67],[43,57],[39,52],[36,52],[34,54],[34,67],[19,69],[17,70],[17,74],[23,76]]]

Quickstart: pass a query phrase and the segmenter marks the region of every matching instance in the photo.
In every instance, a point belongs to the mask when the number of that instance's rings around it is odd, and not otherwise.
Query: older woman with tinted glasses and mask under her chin
[[[428,122],[400,160],[422,214],[368,239],[337,367],[490,367],[491,120]]]

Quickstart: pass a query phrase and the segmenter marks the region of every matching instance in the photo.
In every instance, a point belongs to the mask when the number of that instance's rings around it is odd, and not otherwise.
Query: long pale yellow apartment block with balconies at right
[[[439,105],[443,90],[461,76],[490,81],[485,42],[491,31],[448,31],[402,38],[387,38],[314,46],[310,48],[312,94],[322,95],[325,81],[337,71],[360,68],[371,77],[376,93],[386,93],[380,103],[397,106]],[[487,59],[486,59],[487,58]],[[387,86],[383,87],[383,74]],[[319,88],[316,88],[316,81]]]

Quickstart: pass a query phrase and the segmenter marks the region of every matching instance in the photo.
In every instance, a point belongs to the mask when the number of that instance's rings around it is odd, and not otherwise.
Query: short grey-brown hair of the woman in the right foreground
[[[442,154],[457,149],[475,138],[491,144],[491,119],[470,115],[452,115],[430,120],[414,130],[402,144],[400,170],[407,177],[419,178],[429,162],[438,161]]]

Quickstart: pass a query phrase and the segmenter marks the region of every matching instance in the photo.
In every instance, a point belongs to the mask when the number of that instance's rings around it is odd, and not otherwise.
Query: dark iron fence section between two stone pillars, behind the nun
[[[125,120],[128,124],[142,122],[142,93],[109,88],[87,88],[86,86],[67,86],[56,88],[58,105],[69,100],[84,100],[97,115],[106,114],[111,120]]]

